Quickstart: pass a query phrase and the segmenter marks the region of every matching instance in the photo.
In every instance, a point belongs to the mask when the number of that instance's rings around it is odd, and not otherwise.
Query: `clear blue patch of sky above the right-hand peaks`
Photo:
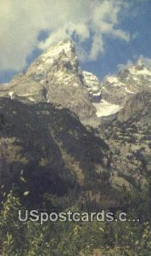
[[[130,13],[121,17],[120,28],[130,32],[133,38],[127,43],[118,38],[104,38],[105,50],[97,61],[87,61],[82,67],[100,79],[107,74],[117,73],[119,64],[135,62],[140,56],[151,59],[151,1],[135,4]],[[151,63],[151,61],[148,61]],[[151,65],[150,65],[151,67]]]

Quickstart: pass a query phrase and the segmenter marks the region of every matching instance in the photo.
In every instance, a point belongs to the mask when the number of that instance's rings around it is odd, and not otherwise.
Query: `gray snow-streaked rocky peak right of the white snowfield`
[[[102,97],[110,103],[123,106],[128,98],[148,88],[151,88],[151,70],[138,60],[134,66],[125,68],[117,76],[104,79]]]

